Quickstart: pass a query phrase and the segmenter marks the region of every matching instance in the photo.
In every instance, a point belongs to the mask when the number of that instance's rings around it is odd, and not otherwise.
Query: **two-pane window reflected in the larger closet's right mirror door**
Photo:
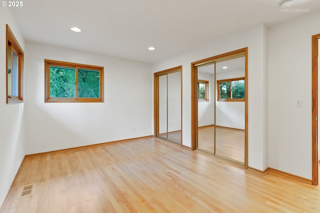
[[[217,80],[218,101],[245,101],[244,77]]]

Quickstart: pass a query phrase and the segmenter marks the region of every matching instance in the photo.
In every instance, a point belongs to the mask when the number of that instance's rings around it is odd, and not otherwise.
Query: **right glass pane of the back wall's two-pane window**
[[[78,69],[78,97],[99,98],[99,71]]]

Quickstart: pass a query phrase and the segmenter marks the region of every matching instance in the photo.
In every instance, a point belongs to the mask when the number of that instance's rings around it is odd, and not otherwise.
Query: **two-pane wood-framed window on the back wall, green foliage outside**
[[[44,102],[103,102],[103,67],[44,59]]]

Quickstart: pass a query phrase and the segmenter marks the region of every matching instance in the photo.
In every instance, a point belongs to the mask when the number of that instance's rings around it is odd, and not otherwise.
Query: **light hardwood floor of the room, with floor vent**
[[[26,158],[3,210],[116,212],[319,213],[320,188],[150,137]]]

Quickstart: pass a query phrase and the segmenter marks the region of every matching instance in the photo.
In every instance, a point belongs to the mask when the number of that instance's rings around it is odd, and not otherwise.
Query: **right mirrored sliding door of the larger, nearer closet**
[[[215,155],[244,163],[244,56],[217,62],[215,76]]]

